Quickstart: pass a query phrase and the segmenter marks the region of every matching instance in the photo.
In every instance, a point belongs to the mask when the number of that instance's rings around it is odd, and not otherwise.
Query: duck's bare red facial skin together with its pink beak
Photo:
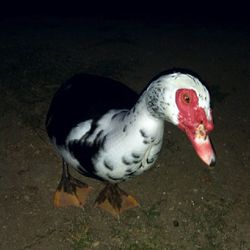
[[[205,109],[199,106],[198,96],[193,89],[178,89],[176,105],[179,110],[178,127],[186,133],[199,157],[207,165],[214,165],[215,154],[208,137],[214,128],[211,110],[206,114]]]

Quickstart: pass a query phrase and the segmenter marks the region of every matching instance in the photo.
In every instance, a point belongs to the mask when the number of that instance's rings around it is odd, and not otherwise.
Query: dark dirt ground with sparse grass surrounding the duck
[[[0,249],[250,249],[250,29],[164,20],[0,21]],[[44,119],[76,73],[139,92],[173,67],[211,92],[217,165],[207,169],[166,124],[155,167],[121,186],[141,207],[120,220],[93,207],[53,207],[61,161]],[[81,177],[80,177],[81,178]]]

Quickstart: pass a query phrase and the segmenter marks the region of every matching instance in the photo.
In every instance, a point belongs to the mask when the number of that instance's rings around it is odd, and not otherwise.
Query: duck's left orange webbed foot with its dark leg
[[[62,177],[54,196],[55,207],[83,207],[91,189],[70,175],[68,164],[63,160]]]

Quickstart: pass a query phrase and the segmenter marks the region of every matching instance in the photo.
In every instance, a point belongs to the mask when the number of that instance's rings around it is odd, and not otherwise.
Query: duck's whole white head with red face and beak
[[[215,154],[208,136],[214,124],[206,87],[190,74],[172,73],[155,79],[146,96],[149,112],[177,125],[198,156],[207,165],[214,165]]]

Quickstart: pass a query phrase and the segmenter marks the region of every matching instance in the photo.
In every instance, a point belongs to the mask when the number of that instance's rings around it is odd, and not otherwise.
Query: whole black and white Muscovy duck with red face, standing
[[[215,165],[209,137],[214,128],[210,95],[194,73],[165,71],[150,80],[141,94],[119,81],[85,73],[64,82],[52,98],[45,123],[62,158],[55,207],[83,207],[93,189],[71,175],[72,168],[105,184],[96,207],[119,217],[139,206],[119,183],[154,165],[165,121],[187,135],[207,166]]]

